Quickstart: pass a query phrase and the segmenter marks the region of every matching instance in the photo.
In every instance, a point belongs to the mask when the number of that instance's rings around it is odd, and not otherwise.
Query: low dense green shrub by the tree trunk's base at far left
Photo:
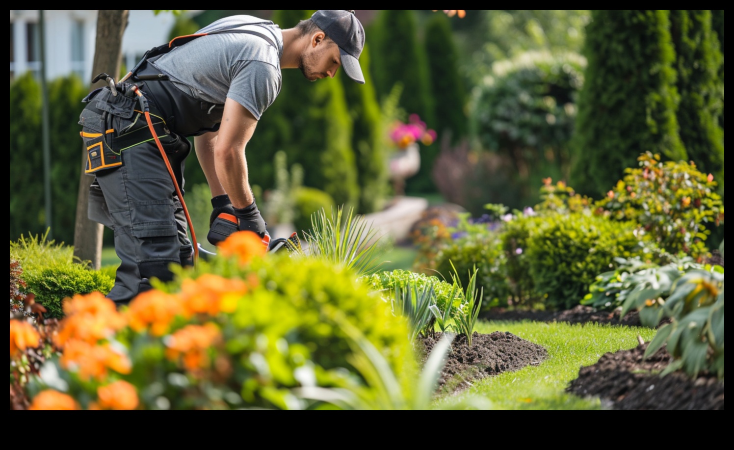
[[[115,280],[108,275],[87,269],[81,264],[67,264],[28,272],[25,275],[27,291],[36,295],[36,302],[48,310],[48,319],[64,316],[63,302],[75,294],[99,291],[109,294]]]

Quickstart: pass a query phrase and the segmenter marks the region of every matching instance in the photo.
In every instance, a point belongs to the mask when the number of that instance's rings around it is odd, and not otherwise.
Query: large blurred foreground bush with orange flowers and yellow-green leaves
[[[345,323],[396,373],[411,371],[404,322],[355,272],[302,255],[261,258],[262,246],[252,244],[259,238],[248,234],[236,233],[221,257],[178,269],[174,282],[123,311],[98,292],[66,300],[53,339],[60,355],[23,386],[29,409],[318,407],[293,388],[360,383]],[[11,362],[35,342],[27,327],[11,326]]]

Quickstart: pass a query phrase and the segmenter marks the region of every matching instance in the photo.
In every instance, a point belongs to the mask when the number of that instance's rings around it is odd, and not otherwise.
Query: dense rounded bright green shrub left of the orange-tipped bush
[[[642,255],[643,247],[631,222],[613,222],[591,214],[552,214],[536,223],[526,248],[528,276],[551,309],[578,305],[596,276],[614,258]]]

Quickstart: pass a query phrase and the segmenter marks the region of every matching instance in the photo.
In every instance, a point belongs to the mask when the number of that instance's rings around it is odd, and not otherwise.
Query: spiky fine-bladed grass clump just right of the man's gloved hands
[[[344,214],[344,207],[327,215],[322,208],[311,216],[311,230],[305,233],[309,254],[355,270],[359,275],[374,273],[379,268],[377,230],[364,216],[356,216],[354,208]]]

